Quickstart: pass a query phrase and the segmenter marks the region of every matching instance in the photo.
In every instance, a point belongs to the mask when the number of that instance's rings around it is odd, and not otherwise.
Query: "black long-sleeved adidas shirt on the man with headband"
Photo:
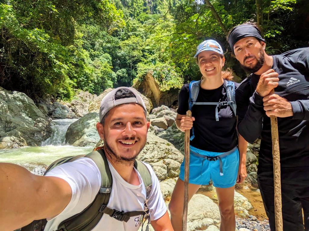
[[[273,56],[273,69],[279,73],[275,94],[287,99],[294,115],[278,117],[281,168],[309,168],[309,48]],[[272,169],[270,118],[262,97],[255,92],[260,76],[251,74],[236,90],[238,131],[252,143],[261,136],[259,169]]]

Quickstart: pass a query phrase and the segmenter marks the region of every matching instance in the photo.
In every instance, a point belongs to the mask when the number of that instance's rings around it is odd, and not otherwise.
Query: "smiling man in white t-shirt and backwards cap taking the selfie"
[[[133,167],[146,144],[150,126],[141,96],[131,87],[112,90],[102,99],[99,118],[96,128],[104,140],[104,170],[110,170],[111,191],[101,186],[106,174],[100,172],[95,159],[83,157],[61,164],[45,176],[33,175],[15,164],[0,163],[0,230],[12,231],[42,218],[48,221],[44,231],[67,230],[59,228],[62,221],[85,211],[99,193],[107,192],[108,204],[96,210],[102,217],[96,224],[91,221],[91,228],[82,230],[137,231],[144,218],[138,212],[145,206],[155,230],[173,230],[154,171],[149,164],[142,163],[152,182],[146,192],[142,173]],[[129,216],[129,211],[134,211],[133,216]]]

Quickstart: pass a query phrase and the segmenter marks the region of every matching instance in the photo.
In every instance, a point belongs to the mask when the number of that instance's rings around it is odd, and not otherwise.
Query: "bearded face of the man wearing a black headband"
[[[254,73],[260,70],[265,62],[265,43],[254,37],[239,39],[233,49],[236,59],[245,71]]]

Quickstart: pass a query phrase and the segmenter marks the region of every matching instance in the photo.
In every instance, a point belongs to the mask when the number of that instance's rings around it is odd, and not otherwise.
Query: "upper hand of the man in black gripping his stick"
[[[262,97],[269,95],[270,91],[278,86],[278,73],[273,69],[269,69],[260,76],[260,80],[256,86],[256,93]]]

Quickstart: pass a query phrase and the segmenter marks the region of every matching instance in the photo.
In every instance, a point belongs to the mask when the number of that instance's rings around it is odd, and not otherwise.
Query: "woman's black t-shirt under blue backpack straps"
[[[235,83],[235,89],[238,85]],[[200,87],[196,102],[219,102],[220,99],[228,101],[225,84],[213,90]],[[188,102],[189,84],[184,84],[178,95],[178,114],[186,115]],[[216,121],[215,109],[216,105],[193,105],[195,138],[190,141],[190,145],[210,152],[227,152],[237,145],[236,117],[231,107],[226,105],[218,108],[219,121]]]

